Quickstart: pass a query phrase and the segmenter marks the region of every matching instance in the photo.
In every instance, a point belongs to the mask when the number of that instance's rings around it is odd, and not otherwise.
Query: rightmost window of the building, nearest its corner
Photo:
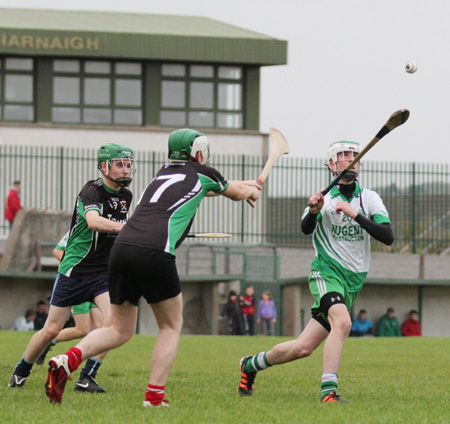
[[[163,126],[243,128],[243,77],[238,66],[163,64]]]

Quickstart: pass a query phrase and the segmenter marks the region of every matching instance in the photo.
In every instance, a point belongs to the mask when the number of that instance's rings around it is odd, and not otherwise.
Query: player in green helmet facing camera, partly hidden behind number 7
[[[88,181],[77,197],[65,254],[50,297],[48,318],[44,328],[28,343],[9,387],[23,387],[36,360],[64,327],[71,306],[95,302],[104,317],[104,325],[111,323],[108,260],[117,234],[127,221],[132,194],[126,187],[134,173],[134,153],[128,147],[110,143],[100,147],[97,160],[102,176]],[[77,390],[105,391],[95,381],[106,354],[99,353],[86,363]]]

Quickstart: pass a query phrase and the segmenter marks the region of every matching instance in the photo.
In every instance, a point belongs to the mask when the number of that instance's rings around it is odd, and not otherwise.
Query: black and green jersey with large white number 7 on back
[[[210,166],[171,162],[145,189],[116,243],[174,255],[191,228],[201,200],[210,191],[222,193],[227,188],[228,182]]]

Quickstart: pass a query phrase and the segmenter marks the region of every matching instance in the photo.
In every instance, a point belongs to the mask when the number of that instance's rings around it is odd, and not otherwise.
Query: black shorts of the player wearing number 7
[[[111,303],[158,303],[181,293],[175,256],[162,250],[115,243],[109,257]]]

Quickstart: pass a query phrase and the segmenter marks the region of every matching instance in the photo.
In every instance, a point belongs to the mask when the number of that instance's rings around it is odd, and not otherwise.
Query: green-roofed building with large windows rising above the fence
[[[192,127],[216,152],[265,153],[260,70],[286,64],[286,41],[204,17],[0,10],[4,144],[164,151]]]

